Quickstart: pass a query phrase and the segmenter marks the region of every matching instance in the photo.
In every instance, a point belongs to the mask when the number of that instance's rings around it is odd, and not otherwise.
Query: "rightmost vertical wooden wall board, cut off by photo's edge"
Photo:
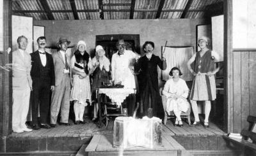
[[[256,52],[249,53],[250,67],[250,115],[256,117]]]

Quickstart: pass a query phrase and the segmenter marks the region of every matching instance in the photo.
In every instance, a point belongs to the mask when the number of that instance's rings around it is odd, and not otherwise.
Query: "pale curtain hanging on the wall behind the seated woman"
[[[162,53],[164,46],[162,48]],[[187,62],[193,55],[193,46],[184,48],[172,48],[165,47],[164,56],[166,57],[166,70],[162,71],[162,78],[164,81],[170,79],[169,72],[173,67],[179,67],[180,71],[183,73],[180,78],[186,82],[193,80],[193,75],[190,73]]]

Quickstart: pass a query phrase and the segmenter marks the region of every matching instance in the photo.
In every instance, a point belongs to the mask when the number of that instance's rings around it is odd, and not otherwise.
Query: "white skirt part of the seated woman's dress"
[[[177,100],[168,98],[166,101],[166,112],[170,115],[170,111],[183,111],[188,110],[189,103],[187,99],[178,98]]]

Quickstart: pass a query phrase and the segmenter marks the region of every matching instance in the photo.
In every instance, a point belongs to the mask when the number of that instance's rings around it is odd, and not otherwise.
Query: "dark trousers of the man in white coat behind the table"
[[[127,96],[124,102],[122,103],[122,107],[127,108],[127,113],[129,117],[133,115],[135,109],[135,100],[135,94],[129,94],[129,96]]]

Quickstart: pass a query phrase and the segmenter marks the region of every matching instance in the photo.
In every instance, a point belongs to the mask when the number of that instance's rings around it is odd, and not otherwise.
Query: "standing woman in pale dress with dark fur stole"
[[[73,85],[71,101],[74,101],[75,124],[85,124],[83,120],[84,107],[91,103],[90,73],[92,73],[92,59],[86,52],[86,43],[79,41],[77,51],[71,58]]]

